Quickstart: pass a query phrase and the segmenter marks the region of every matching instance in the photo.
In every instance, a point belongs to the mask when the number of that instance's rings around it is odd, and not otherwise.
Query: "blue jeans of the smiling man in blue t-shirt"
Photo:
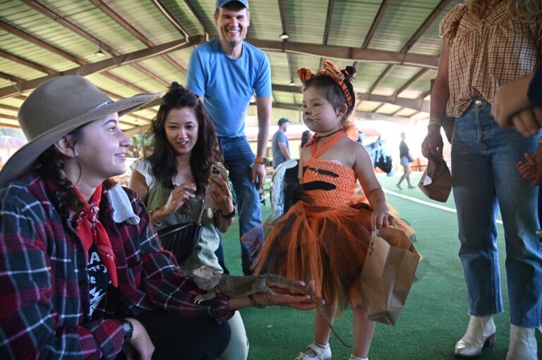
[[[229,169],[229,178],[234,185],[239,213],[239,238],[245,232],[262,223],[260,192],[251,182],[251,170],[255,156],[246,137],[220,137],[220,147],[224,152],[224,163]],[[251,274],[250,249],[241,243],[243,273]]]

